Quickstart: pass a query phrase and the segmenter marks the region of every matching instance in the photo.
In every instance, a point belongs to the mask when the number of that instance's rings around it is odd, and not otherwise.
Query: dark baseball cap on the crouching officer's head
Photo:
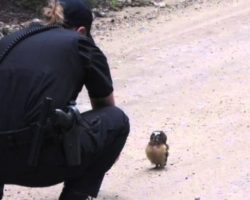
[[[84,26],[87,36],[91,37],[90,30],[93,22],[91,5],[88,0],[59,0],[64,9],[64,23],[66,27]]]

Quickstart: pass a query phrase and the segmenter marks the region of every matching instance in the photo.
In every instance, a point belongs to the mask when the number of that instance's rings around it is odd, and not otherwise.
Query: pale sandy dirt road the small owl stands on
[[[98,199],[250,200],[250,4],[214,2],[97,38],[131,120]],[[160,171],[144,153],[155,129],[170,145]],[[8,186],[5,199],[55,200],[60,189]]]

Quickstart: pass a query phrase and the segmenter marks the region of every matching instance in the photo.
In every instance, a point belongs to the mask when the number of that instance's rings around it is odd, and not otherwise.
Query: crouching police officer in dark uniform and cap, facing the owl
[[[64,182],[60,200],[96,197],[128,133],[83,0],[51,1],[46,22],[0,40],[0,182]],[[93,110],[79,113],[82,87]],[[2,187],[3,189],[3,187]]]

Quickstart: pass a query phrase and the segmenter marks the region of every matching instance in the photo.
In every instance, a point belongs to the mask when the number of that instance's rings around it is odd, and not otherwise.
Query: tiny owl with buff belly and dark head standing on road
[[[163,131],[155,131],[150,136],[146,155],[156,168],[163,168],[167,164],[169,146],[166,142],[167,136]]]

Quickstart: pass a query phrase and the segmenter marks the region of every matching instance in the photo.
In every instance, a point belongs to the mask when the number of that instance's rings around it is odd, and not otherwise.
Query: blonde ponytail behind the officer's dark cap
[[[58,0],[49,0],[48,6],[43,9],[46,25],[60,24],[64,22],[63,7]]]

